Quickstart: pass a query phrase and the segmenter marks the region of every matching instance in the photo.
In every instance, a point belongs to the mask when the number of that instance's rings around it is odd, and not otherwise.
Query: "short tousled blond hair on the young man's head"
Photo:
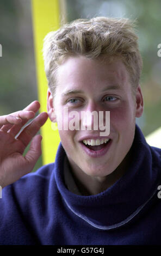
[[[44,64],[48,87],[54,96],[56,72],[70,56],[121,58],[129,72],[132,88],[138,87],[142,59],[135,22],[129,19],[94,17],[78,19],[49,32],[44,39]]]

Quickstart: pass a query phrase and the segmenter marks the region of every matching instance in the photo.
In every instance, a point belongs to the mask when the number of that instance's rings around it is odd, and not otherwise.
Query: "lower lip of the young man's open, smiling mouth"
[[[101,156],[104,156],[107,153],[107,151],[109,150],[111,144],[112,144],[112,139],[110,139],[110,141],[107,143],[106,147],[104,147],[104,148],[102,148],[100,150],[94,151],[94,150],[91,150],[91,149],[87,148],[84,145],[83,142],[80,142],[80,145],[81,145],[82,149],[90,157],[101,157]]]

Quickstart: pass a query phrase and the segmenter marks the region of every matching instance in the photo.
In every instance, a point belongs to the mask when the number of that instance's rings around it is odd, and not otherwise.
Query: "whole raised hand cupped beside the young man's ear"
[[[34,118],[39,108],[40,103],[33,101],[22,111],[0,117],[0,185],[2,188],[31,172],[41,155],[42,137],[36,133],[45,124],[48,114],[43,112]],[[34,118],[32,122],[20,132],[32,118]],[[24,149],[31,140],[30,148],[23,156]]]

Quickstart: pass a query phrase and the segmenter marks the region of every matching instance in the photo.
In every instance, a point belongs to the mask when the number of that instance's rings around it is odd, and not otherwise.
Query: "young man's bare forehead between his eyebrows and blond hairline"
[[[123,88],[127,83],[129,84],[128,72],[118,58],[69,57],[57,71],[57,89],[61,87],[63,92],[69,87],[96,90],[102,86]]]

